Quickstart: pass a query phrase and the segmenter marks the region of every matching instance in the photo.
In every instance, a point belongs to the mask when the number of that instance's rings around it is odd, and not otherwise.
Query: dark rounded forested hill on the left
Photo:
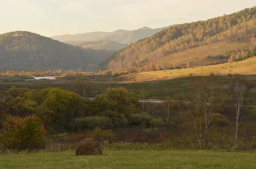
[[[78,69],[98,71],[114,51],[82,49],[27,31],[0,35],[0,70]]]

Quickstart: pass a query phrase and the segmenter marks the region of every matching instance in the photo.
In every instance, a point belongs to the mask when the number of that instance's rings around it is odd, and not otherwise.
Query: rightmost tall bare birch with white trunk
[[[244,102],[244,97],[247,90],[246,81],[244,79],[235,78],[233,81],[233,101],[234,101],[234,112],[236,114],[236,131],[235,131],[235,140],[234,146],[237,143],[237,134],[238,134],[238,126],[239,126],[239,117],[242,114],[242,106]]]

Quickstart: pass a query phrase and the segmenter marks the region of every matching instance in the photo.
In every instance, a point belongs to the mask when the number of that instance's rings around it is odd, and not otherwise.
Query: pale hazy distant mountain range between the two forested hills
[[[96,41],[96,40],[108,40],[108,41],[115,41],[122,44],[130,44],[133,42],[136,42],[140,39],[152,36],[156,34],[157,32],[166,29],[168,27],[171,27],[173,25],[162,27],[162,28],[156,28],[152,29],[149,27],[143,27],[137,30],[116,30],[113,32],[89,32],[89,33],[83,33],[83,34],[75,34],[75,35],[58,35],[58,36],[52,36],[50,38],[65,42],[65,43],[71,43],[77,44],[81,41]],[[72,42],[72,41],[80,41],[80,42]]]

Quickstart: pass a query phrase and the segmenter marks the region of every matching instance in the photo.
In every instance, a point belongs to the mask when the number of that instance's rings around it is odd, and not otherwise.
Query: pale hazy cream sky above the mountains
[[[160,28],[255,5],[255,0],[0,0],[0,34],[27,30],[53,36]]]

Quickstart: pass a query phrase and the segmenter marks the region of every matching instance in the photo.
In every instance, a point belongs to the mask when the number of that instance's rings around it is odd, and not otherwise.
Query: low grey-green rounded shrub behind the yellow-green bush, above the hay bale
[[[94,129],[96,127],[106,129],[112,127],[112,121],[108,117],[100,116],[75,118],[74,127],[76,130]]]

